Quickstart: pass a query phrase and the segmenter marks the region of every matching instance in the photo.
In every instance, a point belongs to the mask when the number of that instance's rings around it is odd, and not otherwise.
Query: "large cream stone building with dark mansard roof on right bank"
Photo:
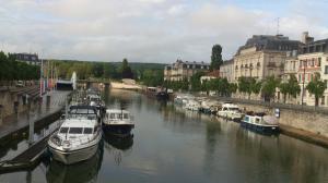
[[[274,75],[281,77],[284,72],[286,52],[298,50],[301,42],[277,35],[255,35],[239,47],[234,56],[234,81],[239,77],[263,80]]]

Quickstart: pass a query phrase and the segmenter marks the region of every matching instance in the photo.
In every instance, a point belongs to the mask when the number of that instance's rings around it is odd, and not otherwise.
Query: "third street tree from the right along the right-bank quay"
[[[276,88],[279,86],[280,80],[276,78],[273,75],[268,76],[262,84],[262,94],[265,100],[271,100],[274,97]]]

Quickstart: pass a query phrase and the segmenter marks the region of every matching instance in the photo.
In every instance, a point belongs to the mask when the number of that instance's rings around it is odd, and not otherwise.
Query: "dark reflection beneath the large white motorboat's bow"
[[[97,152],[90,159],[66,166],[58,161],[50,161],[47,167],[47,182],[97,182],[97,174],[103,162],[104,146],[99,144]]]

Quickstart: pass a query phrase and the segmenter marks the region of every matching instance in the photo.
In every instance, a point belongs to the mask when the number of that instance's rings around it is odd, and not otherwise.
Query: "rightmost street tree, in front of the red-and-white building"
[[[323,97],[326,88],[327,88],[327,83],[320,81],[319,73],[315,73],[314,80],[311,81],[306,86],[306,89],[308,90],[308,93],[311,93],[315,96],[315,106],[319,105],[319,98]]]

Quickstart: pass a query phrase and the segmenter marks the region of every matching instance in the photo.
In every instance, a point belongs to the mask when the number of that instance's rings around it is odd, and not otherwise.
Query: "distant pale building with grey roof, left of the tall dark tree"
[[[164,81],[183,81],[184,78],[189,81],[195,73],[208,70],[210,70],[209,63],[177,60],[165,66]]]

